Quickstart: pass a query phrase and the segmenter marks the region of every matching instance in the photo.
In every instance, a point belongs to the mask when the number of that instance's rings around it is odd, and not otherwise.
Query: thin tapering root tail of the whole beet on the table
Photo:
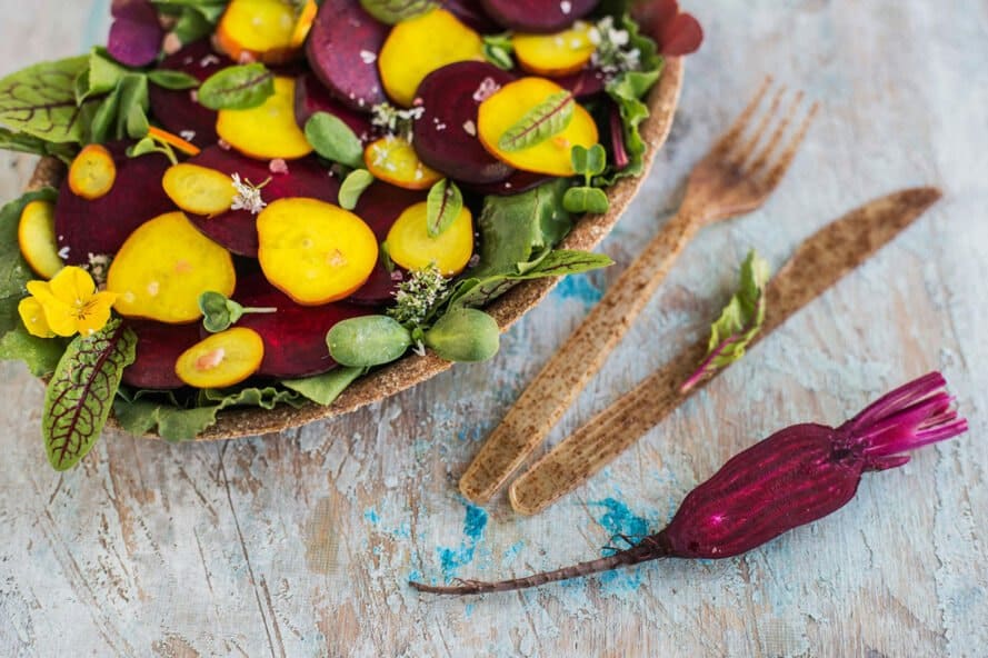
[[[563,567],[555,571],[542,571],[523,578],[512,578],[509,580],[499,580],[496,582],[487,582],[483,580],[461,580],[462,585],[426,585],[425,582],[409,581],[415,589],[427,594],[439,595],[472,595],[485,594],[488,591],[510,591],[515,589],[528,589],[529,587],[538,587],[547,582],[558,582],[560,580],[569,580],[570,578],[579,578],[590,574],[600,574],[601,571],[610,571],[618,567],[630,567],[649,560],[669,557],[671,548],[666,539],[665,530],[658,535],[650,535],[627,550],[616,552],[611,556],[597,558],[586,562],[579,562],[571,567]]]

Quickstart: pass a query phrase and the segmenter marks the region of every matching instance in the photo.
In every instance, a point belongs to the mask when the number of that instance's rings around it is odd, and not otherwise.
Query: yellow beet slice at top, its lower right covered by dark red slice
[[[482,52],[477,32],[445,9],[433,9],[392,28],[381,47],[378,69],[388,96],[410,107],[426,76],[452,62],[480,60]]]

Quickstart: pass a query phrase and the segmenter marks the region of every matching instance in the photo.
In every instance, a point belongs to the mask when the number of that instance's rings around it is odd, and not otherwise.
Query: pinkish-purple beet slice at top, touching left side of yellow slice
[[[363,11],[358,0],[326,0],[319,9],[306,56],[312,71],[342,102],[369,112],[385,102],[377,58],[388,26]]]

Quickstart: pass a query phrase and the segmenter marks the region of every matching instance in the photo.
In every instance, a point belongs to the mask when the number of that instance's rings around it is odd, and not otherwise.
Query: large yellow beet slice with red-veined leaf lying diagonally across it
[[[565,130],[527,149],[506,152],[498,148],[501,136],[518,123],[528,112],[540,106],[553,93],[565,91],[542,78],[522,78],[501,87],[480,103],[477,114],[477,137],[493,157],[517,169],[572,176],[569,152],[575,146],[590,148],[597,143],[597,124],[579,103],[573,106],[572,120]]]

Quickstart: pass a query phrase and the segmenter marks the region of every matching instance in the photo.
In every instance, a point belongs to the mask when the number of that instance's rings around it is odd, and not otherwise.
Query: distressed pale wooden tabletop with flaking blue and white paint
[[[491,362],[282,436],[168,445],[106,436],[63,476],[42,387],[0,366],[2,656],[985,656],[988,654],[988,4],[686,2],[708,40],[646,191],[605,250],[635,255],[766,72],[825,103],[762,210],[705,231],[553,435],[706,330],[757,247],[896,188],[942,186],[918,225],[560,505],[519,518],[456,480],[616,276],[565,282]],[[2,70],[84,50],[109,0],[0,0]],[[13,198],[31,171],[3,156]],[[941,369],[970,433],[867,477],[839,514],[740,559],[645,565],[540,590],[418,596],[409,577],[521,575],[658,529],[731,453],[842,421]]]

